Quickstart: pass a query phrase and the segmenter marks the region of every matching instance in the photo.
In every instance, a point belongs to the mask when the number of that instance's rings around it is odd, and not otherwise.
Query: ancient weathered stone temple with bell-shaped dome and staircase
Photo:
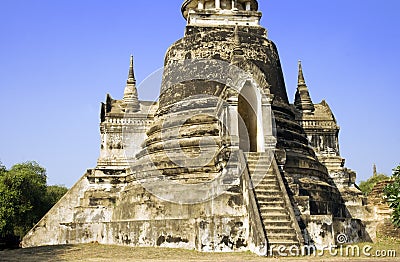
[[[160,98],[138,99],[133,58],[121,100],[101,105],[98,164],[23,246],[102,244],[263,254],[373,233],[328,104],[299,64],[289,103],[256,0],[187,0]],[[121,90],[122,91],[122,90]],[[121,92],[122,93],[122,92]]]

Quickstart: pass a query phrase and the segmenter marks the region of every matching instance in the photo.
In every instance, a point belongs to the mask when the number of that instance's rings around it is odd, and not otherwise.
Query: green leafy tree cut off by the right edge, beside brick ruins
[[[393,182],[387,185],[383,192],[390,207],[393,208],[392,222],[400,227],[400,165],[393,169],[392,180]]]

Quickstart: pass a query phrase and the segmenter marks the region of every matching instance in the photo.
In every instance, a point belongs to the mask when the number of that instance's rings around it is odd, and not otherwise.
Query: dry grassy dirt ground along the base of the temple
[[[363,248],[370,245],[370,257],[363,254]],[[378,260],[400,261],[400,241],[381,240],[379,243],[363,243],[360,247],[360,256],[343,255],[332,256],[325,252],[324,256],[303,257],[259,257],[250,252],[245,253],[201,253],[196,251],[168,248],[134,248],[124,246],[107,246],[100,244],[68,245],[36,247],[27,249],[0,251],[0,261],[346,261],[346,260]],[[396,257],[388,258],[375,256],[376,251],[395,250]],[[338,250],[339,251],[339,250]],[[340,254],[340,252],[338,252]]]

